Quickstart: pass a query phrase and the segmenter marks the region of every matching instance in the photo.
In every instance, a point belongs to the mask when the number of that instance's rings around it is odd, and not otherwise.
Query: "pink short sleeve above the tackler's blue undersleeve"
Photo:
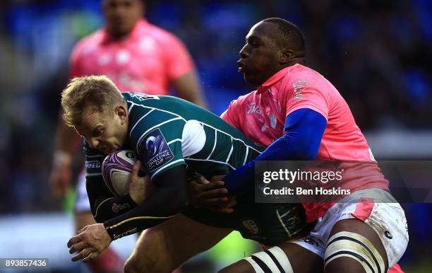
[[[287,89],[284,98],[286,116],[301,108],[308,108],[319,112],[328,120],[328,99],[325,95],[325,86],[320,85],[317,79],[308,81],[295,81]]]

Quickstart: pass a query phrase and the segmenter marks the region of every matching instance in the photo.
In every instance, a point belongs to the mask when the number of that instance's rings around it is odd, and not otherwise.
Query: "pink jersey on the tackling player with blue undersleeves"
[[[388,180],[380,173],[349,106],[337,89],[313,69],[295,64],[278,71],[258,90],[234,100],[222,118],[257,144],[268,146],[284,134],[287,115],[301,108],[319,112],[328,122],[318,160],[367,162],[349,165],[351,171],[344,175],[342,189],[388,190]],[[306,220],[315,221],[324,216],[332,204],[303,204]]]

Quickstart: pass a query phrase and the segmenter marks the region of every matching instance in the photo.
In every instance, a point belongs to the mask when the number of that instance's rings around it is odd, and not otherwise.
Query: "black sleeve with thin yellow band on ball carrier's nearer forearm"
[[[113,240],[151,228],[186,207],[186,168],[171,168],[155,181],[156,189],[136,208],[104,222]]]

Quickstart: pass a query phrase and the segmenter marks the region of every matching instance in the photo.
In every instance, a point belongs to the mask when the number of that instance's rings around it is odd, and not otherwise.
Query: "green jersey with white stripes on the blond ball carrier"
[[[151,180],[181,164],[187,164],[188,178],[227,174],[263,151],[217,115],[186,100],[123,95],[129,113],[128,142]]]

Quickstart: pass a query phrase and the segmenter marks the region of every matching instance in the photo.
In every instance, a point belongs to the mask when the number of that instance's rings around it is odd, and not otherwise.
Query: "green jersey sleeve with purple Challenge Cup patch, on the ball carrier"
[[[185,120],[160,110],[138,110],[132,125],[131,139],[147,168],[150,180],[178,165],[186,164],[181,151],[181,136]]]

